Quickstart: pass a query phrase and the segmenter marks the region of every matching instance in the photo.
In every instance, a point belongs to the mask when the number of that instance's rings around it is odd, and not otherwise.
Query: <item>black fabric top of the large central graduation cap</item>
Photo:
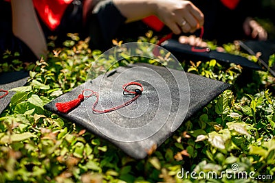
[[[47,103],[44,107],[69,121],[83,125],[85,129],[111,141],[136,159],[145,158],[148,149],[151,149],[153,145],[161,145],[181,123],[230,87],[230,84],[217,80],[210,80],[191,73],[185,75],[183,71],[151,64],[120,66],[110,73],[85,82],[69,93]],[[159,82],[161,80],[154,80],[155,76],[152,73],[159,75],[165,84]],[[182,75],[186,80],[177,84],[175,81]],[[153,82],[146,82],[140,78],[148,78]],[[144,91],[136,101],[119,110],[106,114],[94,114],[91,106],[95,97],[89,97],[67,114],[58,112],[56,109],[55,103],[76,99],[85,88],[95,91],[100,88],[103,91],[100,93],[99,104],[96,108],[107,109],[117,106],[118,103],[121,104],[133,98],[131,95],[123,95],[121,82],[129,81],[140,82],[144,86]],[[134,86],[132,87],[134,90]],[[110,104],[112,102],[113,106]],[[151,136],[143,138],[148,135],[147,132],[152,132]],[[129,140],[137,138],[140,140]]]

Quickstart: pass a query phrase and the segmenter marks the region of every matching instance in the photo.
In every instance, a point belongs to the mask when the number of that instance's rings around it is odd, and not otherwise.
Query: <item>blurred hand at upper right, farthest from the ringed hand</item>
[[[258,40],[267,40],[267,32],[265,29],[254,19],[248,17],[243,23],[243,31],[247,36],[258,38]]]

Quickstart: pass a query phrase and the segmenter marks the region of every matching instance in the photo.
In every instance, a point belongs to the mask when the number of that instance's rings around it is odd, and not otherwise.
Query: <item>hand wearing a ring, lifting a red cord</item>
[[[195,32],[203,26],[202,12],[190,1],[183,0],[157,0],[155,15],[167,25],[174,34],[181,32]]]

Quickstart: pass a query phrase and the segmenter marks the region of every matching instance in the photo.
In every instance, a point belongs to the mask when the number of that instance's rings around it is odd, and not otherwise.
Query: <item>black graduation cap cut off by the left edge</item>
[[[29,74],[24,71],[0,73],[0,88],[3,90],[10,90],[26,84]],[[10,103],[10,99],[15,92],[11,91],[5,97],[0,99],[0,114]]]

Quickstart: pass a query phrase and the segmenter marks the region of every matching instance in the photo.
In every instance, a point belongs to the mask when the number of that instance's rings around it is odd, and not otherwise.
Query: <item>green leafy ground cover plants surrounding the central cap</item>
[[[149,32],[140,40],[156,38]],[[275,79],[269,73],[253,71],[251,77],[257,80],[239,85],[241,66],[180,60],[185,71],[234,86],[188,119],[156,151],[148,149],[147,158],[134,160],[73,121],[43,109],[45,103],[85,82],[91,66],[94,77],[104,73],[114,58],[95,66],[100,53],[88,49],[87,40],[69,34],[64,47],[54,47],[47,61],[25,64],[16,54],[4,55],[7,63],[0,65],[1,71],[27,69],[30,79],[26,86],[13,89],[17,93],[0,116],[0,182],[274,181]],[[169,59],[159,60],[165,64]],[[270,60],[274,62],[274,56]],[[115,66],[129,62],[157,64],[132,58]],[[229,178],[226,171],[232,176],[241,171],[243,177]],[[244,172],[252,172],[254,179],[245,178]],[[204,177],[213,173],[217,178]]]

